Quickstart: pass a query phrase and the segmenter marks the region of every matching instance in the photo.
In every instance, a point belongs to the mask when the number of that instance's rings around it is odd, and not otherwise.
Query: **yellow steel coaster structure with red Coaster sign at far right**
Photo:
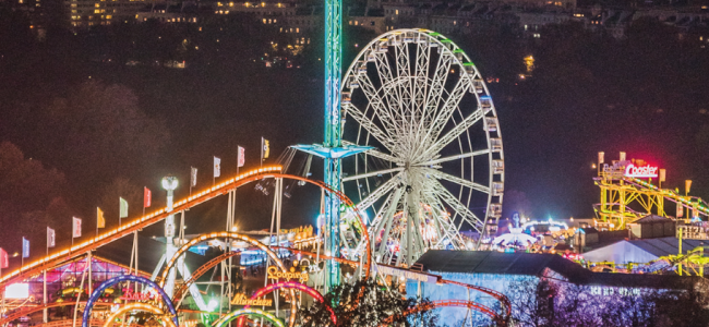
[[[602,153],[599,154],[598,177],[593,182],[601,189],[601,202],[594,206],[596,215],[599,218],[597,227],[609,230],[625,229],[628,223],[647,215],[658,215],[676,219],[676,215],[669,215],[666,202],[674,205],[670,211],[675,214],[682,211],[687,218],[709,216],[709,205],[701,198],[688,196],[688,183],[686,183],[685,195],[675,190],[661,189],[652,183],[652,178],[636,178],[627,173],[628,166],[644,165],[642,160],[625,160],[625,154],[621,153],[621,160],[614,160],[611,165],[603,164]],[[637,164],[642,162],[642,164]],[[660,185],[664,181],[664,170],[660,170]],[[677,208],[680,207],[680,208]],[[706,220],[706,219],[704,219]]]

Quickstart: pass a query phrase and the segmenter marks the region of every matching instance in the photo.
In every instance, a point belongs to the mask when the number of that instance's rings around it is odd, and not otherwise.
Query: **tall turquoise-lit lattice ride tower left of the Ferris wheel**
[[[343,2],[325,0],[325,140],[322,145],[296,145],[295,148],[325,160],[325,183],[340,191],[340,159],[365,152],[368,146],[343,147],[340,119],[340,86],[343,80]],[[325,252],[339,256],[340,202],[337,196],[325,197]],[[328,261],[325,266],[326,289],[339,283],[339,264]]]

